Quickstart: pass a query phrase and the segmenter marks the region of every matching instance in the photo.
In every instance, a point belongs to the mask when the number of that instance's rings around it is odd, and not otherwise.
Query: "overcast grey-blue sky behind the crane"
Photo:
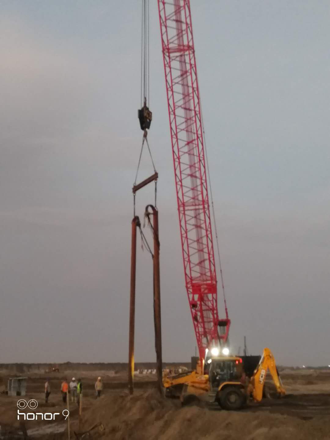
[[[0,2],[0,362],[127,361],[140,9]],[[191,0],[191,14],[233,351],[246,335],[252,354],[268,346],[281,364],[328,364],[330,3]],[[163,359],[187,361],[196,343],[155,0],[150,109]],[[153,188],[137,202],[142,218]],[[140,240],[137,271],[136,360],[152,361]]]

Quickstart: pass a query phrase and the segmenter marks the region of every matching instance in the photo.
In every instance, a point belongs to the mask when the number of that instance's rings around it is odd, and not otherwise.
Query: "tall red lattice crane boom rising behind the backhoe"
[[[158,0],[183,265],[200,359],[226,342],[218,317],[201,103],[189,0]]]

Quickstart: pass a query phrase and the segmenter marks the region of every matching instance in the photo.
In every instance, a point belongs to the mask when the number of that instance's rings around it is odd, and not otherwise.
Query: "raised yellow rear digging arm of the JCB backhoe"
[[[283,388],[282,381],[277,373],[274,356],[269,348],[265,348],[260,362],[257,368],[254,370],[254,374],[248,386],[249,394],[252,392],[253,399],[257,402],[260,402],[260,400],[262,399],[264,381],[266,379],[266,374],[268,370],[271,374],[271,377],[273,378],[277,392],[281,396],[285,395],[285,389]]]

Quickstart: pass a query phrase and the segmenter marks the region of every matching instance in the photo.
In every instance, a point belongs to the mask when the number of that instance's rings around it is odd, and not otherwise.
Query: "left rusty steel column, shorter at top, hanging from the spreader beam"
[[[131,293],[129,301],[129,347],[128,347],[128,389],[133,394],[134,375],[134,327],[135,327],[135,280],[136,280],[136,227],[140,226],[138,216],[132,220],[131,250]]]

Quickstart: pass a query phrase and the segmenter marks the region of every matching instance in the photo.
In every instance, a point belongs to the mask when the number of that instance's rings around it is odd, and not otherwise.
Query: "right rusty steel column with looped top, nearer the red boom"
[[[159,269],[159,228],[158,210],[153,205],[146,207],[146,214],[149,218],[148,208],[152,209],[153,229],[154,229],[154,326],[155,326],[155,349],[156,349],[156,371],[158,379],[158,390],[162,393],[162,359],[161,359],[161,285]]]

